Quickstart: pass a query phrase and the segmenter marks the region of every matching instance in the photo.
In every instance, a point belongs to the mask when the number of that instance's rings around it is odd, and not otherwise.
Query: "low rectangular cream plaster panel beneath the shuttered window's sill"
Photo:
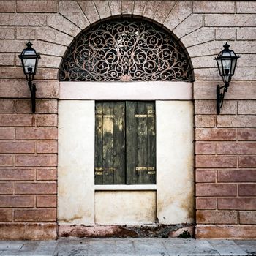
[[[95,192],[96,224],[145,225],[155,221],[155,191]]]

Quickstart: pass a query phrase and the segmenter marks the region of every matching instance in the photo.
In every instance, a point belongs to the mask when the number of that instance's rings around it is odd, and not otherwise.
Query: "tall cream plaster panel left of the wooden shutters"
[[[94,101],[59,102],[59,223],[94,224]]]

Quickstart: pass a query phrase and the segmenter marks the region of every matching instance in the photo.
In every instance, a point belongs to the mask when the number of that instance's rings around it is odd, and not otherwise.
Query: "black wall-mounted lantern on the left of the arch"
[[[27,48],[22,51],[19,55],[21,59],[23,72],[26,75],[26,80],[28,81],[29,89],[31,91],[31,103],[32,103],[32,113],[36,111],[36,85],[32,83],[34,80],[34,75],[37,73],[37,62],[40,58],[39,54],[31,48],[31,42],[26,44]]]

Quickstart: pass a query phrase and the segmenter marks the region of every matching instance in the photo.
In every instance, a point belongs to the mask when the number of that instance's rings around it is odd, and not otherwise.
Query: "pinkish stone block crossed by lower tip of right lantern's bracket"
[[[237,102],[234,100],[225,100],[222,106],[222,114],[236,114]],[[195,113],[196,114],[216,114],[216,100],[195,100]]]

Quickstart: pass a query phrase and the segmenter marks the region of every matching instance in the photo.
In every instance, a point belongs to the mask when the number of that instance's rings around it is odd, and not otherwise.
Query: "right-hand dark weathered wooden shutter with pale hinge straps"
[[[127,104],[127,184],[156,183],[154,102]]]

